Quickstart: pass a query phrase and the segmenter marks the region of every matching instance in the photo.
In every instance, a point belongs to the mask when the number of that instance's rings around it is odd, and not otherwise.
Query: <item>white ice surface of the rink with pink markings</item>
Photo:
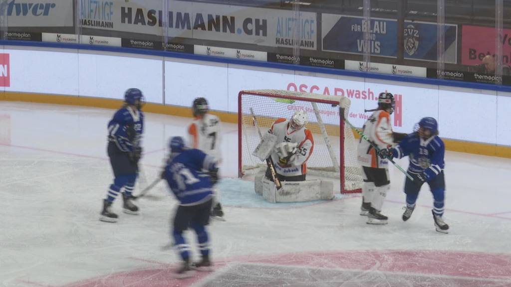
[[[435,231],[426,185],[412,218],[401,220],[404,175],[391,166],[389,223],[374,226],[358,215],[359,194],[264,202],[237,178],[234,124],[222,128],[226,221],[209,227],[215,270],[175,279],[179,257],[166,246],[176,201],[164,182],[137,201],[141,215],[122,213],[118,199],[119,222],[98,220],[112,181],[113,112],[0,102],[0,286],[511,286],[511,159],[447,152],[449,234]],[[168,138],[190,121],[146,114],[135,193],[157,178]]]

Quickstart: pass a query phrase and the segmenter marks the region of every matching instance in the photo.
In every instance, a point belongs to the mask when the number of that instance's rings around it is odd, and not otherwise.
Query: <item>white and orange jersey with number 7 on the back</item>
[[[220,119],[213,114],[204,114],[202,118],[195,118],[188,127],[190,146],[214,156],[219,162],[222,160],[220,144]]]

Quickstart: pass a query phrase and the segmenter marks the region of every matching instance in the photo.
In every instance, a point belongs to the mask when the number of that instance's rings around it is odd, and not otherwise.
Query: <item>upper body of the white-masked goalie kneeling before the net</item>
[[[308,122],[306,112],[296,111],[289,121],[278,118],[268,130],[277,137],[277,145],[270,158],[281,181],[305,181],[307,160],[314,150],[312,133],[305,127]],[[272,180],[269,168],[265,176]]]

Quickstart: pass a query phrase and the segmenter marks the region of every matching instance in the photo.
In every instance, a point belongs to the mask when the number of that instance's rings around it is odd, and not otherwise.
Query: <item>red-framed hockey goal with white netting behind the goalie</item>
[[[309,115],[306,127],[314,137],[314,150],[307,161],[308,178],[326,177],[338,181],[341,193],[360,192],[362,171],[357,162],[357,145],[353,131],[339,116],[339,100],[339,97],[329,95],[286,90],[240,91],[239,176],[263,173],[266,169],[266,163],[252,155],[260,142],[257,126],[264,134],[277,118],[289,119],[296,110],[303,110]],[[343,101],[346,117],[349,105],[349,101]]]

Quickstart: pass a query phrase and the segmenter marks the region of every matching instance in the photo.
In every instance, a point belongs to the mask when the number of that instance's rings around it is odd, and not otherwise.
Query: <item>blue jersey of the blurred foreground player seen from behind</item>
[[[202,170],[216,169],[217,160],[198,149],[172,154],[164,175],[180,205],[197,205],[213,196],[210,176]]]

